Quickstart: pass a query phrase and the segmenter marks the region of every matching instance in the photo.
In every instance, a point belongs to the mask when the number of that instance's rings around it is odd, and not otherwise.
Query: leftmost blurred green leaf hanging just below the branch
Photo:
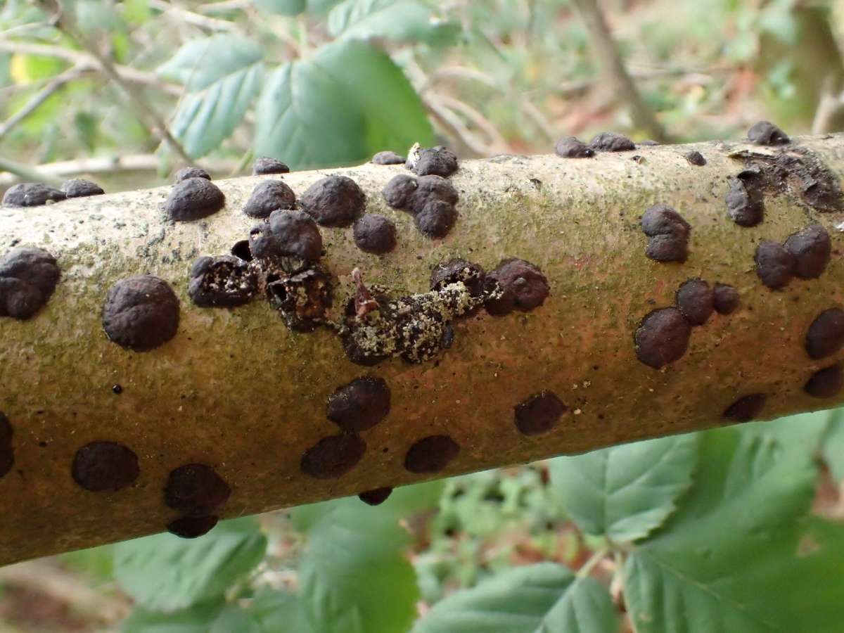
[[[187,609],[222,596],[261,562],[266,549],[254,519],[235,519],[201,538],[164,533],[117,544],[115,577],[146,609]]]

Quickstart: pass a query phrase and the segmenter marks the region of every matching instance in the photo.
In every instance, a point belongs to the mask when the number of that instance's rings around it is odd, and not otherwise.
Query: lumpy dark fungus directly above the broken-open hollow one
[[[322,257],[322,235],[311,216],[303,211],[273,211],[269,222],[249,234],[252,257],[295,272]]]

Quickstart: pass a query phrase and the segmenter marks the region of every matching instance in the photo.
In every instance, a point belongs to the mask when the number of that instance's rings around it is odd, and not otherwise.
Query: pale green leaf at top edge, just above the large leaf
[[[430,44],[453,40],[459,31],[459,24],[439,18],[419,0],[344,0],[328,14],[328,32],[334,37]]]

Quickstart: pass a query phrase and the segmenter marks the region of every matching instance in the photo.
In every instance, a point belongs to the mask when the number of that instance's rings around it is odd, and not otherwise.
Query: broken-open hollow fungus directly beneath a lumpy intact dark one
[[[320,266],[276,278],[268,276],[267,299],[294,332],[313,332],[327,322],[333,301],[331,273]]]

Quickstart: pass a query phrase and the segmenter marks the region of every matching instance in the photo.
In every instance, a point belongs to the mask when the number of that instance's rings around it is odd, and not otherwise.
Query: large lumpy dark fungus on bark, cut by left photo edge
[[[61,274],[45,250],[13,248],[0,260],[0,317],[33,317],[50,300]]]

